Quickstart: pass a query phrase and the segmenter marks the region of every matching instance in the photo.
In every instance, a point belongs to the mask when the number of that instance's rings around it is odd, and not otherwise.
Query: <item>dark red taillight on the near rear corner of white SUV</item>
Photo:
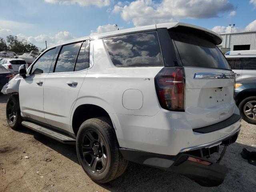
[[[183,68],[164,67],[156,75],[155,85],[162,108],[184,111],[185,73]]]

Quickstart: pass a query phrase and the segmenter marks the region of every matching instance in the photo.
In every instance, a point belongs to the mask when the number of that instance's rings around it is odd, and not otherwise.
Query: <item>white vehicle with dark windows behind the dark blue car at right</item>
[[[256,54],[225,56],[235,73],[236,80],[256,77]]]

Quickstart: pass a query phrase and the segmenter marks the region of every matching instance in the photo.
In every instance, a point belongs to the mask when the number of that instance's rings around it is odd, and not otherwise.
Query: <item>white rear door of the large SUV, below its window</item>
[[[44,84],[44,116],[48,124],[70,130],[70,116],[87,70],[52,73]]]

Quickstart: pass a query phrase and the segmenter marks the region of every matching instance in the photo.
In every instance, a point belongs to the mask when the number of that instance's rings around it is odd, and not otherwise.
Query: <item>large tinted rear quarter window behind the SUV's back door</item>
[[[104,43],[115,66],[163,66],[156,32],[104,38]]]

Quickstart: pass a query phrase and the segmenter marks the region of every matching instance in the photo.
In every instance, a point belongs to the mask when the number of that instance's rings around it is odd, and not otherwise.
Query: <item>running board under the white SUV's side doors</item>
[[[38,133],[41,133],[45,136],[48,136],[52,139],[55,139],[59,142],[65,143],[65,144],[76,144],[76,139],[72,138],[69,135],[66,135],[62,132],[53,130],[51,128],[47,128],[32,122],[28,122],[28,121],[22,121],[21,123],[23,126],[30,128]]]

